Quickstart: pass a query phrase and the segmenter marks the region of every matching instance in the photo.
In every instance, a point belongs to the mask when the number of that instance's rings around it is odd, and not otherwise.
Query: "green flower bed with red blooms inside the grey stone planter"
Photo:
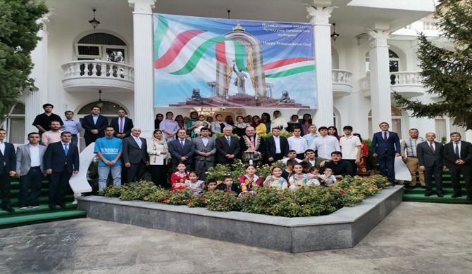
[[[352,207],[375,195],[389,183],[383,176],[346,177],[332,188],[309,186],[299,190],[259,188],[256,194],[235,197],[234,193],[216,190],[193,195],[189,190],[170,191],[153,183],[139,181],[116,187],[110,185],[101,193],[120,200],[142,200],[164,204],[206,207],[211,211],[243,211],[273,216],[302,217],[330,214],[342,207]]]

